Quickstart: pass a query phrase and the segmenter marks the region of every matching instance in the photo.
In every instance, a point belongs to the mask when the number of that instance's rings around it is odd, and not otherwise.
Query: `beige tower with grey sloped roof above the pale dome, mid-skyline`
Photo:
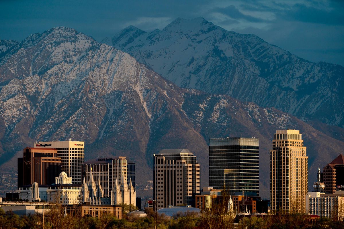
[[[188,149],[163,149],[154,154],[153,198],[157,209],[195,206],[200,193],[200,164]]]

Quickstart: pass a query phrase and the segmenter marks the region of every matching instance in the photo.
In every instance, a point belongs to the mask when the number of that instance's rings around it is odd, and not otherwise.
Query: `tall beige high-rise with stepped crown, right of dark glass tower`
[[[299,130],[276,130],[270,150],[271,210],[305,211],[308,157]]]

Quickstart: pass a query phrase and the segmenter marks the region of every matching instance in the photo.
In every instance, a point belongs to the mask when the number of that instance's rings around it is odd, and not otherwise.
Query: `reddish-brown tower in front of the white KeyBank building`
[[[53,148],[31,148],[23,150],[23,158],[18,158],[18,188],[32,185],[50,185],[61,172],[61,158]]]

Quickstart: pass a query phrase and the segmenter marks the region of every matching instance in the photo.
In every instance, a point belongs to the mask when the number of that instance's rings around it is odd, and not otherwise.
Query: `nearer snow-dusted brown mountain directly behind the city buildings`
[[[206,184],[208,138],[255,136],[260,141],[260,188],[267,197],[268,155],[276,129],[301,130],[311,178],[344,147],[275,108],[179,88],[129,54],[71,28],[31,35],[5,57],[0,65],[1,173],[16,171],[15,157],[33,141],[72,138],[85,141],[86,160],[127,156],[135,161],[136,183],[152,179],[153,153],[189,148]]]

